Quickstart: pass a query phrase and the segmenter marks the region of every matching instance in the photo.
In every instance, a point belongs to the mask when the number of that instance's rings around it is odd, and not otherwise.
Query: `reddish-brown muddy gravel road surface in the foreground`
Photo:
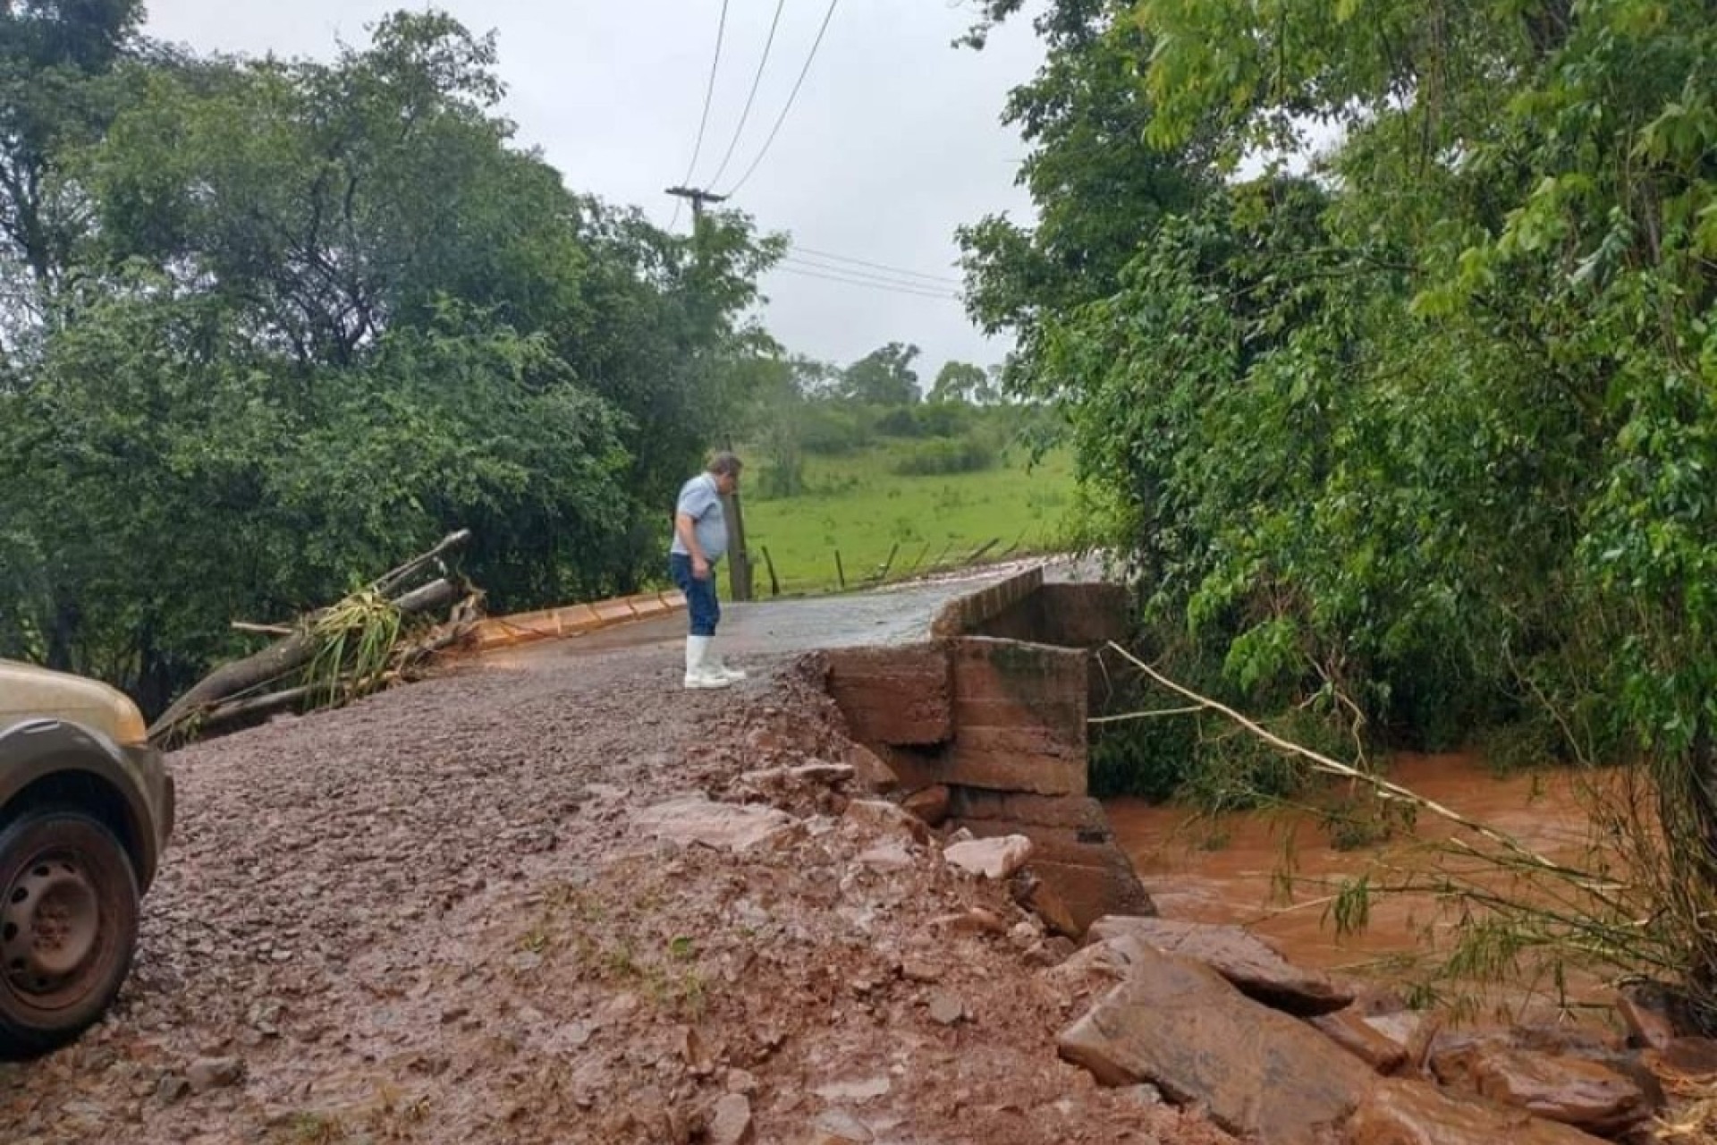
[[[0,1142],[1226,1140],[1056,1061],[1059,951],[999,888],[843,790],[742,781],[848,752],[785,656],[747,666],[520,656],[177,754],[134,977],[0,1064]],[[792,829],[651,838],[685,791]]]

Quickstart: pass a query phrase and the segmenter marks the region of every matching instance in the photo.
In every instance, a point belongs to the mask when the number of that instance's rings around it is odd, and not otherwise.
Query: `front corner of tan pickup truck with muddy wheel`
[[[0,1057],[113,1003],[173,829],[173,779],[124,694],[0,661]]]

